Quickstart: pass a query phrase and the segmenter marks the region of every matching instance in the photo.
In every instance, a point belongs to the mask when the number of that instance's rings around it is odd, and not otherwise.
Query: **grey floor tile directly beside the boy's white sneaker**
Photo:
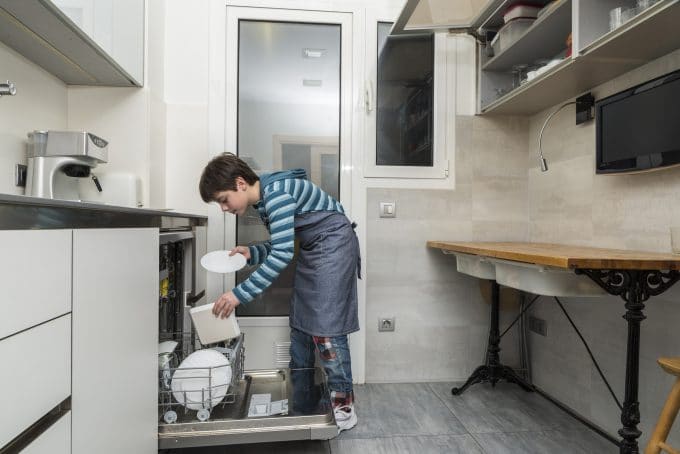
[[[460,421],[426,383],[354,387],[359,422],[340,438],[393,435],[461,435]]]

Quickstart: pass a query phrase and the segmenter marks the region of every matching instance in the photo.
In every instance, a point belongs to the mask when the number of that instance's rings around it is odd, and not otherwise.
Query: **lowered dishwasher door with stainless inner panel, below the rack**
[[[236,388],[233,402],[212,408],[206,421],[200,421],[196,411],[185,409],[177,412],[177,421],[168,424],[159,411],[158,448],[328,440],[338,434],[320,368],[246,371]],[[251,408],[249,417],[253,396],[273,403],[287,399],[287,411],[255,417]]]

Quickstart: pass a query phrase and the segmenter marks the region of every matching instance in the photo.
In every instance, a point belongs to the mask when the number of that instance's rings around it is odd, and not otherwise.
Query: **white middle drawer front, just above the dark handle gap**
[[[71,395],[71,315],[0,341],[0,447]]]

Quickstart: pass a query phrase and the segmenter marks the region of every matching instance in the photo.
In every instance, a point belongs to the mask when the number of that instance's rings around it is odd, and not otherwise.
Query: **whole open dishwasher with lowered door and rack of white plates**
[[[243,333],[228,342],[201,345],[187,313],[205,298],[181,296],[190,294],[188,289],[204,294],[194,284],[194,253],[187,253],[196,248],[188,239],[176,239],[161,241],[159,261],[159,347],[170,348],[159,349],[158,356],[158,448],[335,437],[338,429],[320,368],[244,370]],[[206,351],[221,355],[223,362],[184,366],[190,355]],[[185,379],[191,385],[182,386]]]

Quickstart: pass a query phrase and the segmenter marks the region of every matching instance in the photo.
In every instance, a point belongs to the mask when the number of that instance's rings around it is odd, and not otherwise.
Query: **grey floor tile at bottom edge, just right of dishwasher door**
[[[471,435],[331,440],[332,454],[485,454]]]

